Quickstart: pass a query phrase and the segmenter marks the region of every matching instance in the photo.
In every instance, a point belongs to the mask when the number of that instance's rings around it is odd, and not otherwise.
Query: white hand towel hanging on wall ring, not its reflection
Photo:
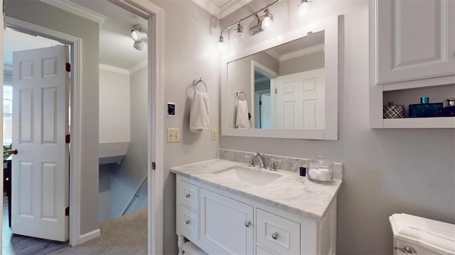
[[[202,130],[208,129],[210,120],[208,105],[207,93],[200,93],[195,90],[190,109],[191,132],[202,132]]]

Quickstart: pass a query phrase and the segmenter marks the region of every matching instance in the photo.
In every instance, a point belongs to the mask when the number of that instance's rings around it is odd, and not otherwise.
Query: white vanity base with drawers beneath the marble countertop
[[[316,220],[178,174],[176,181],[179,254],[183,237],[208,254],[336,252],[336,197]]]

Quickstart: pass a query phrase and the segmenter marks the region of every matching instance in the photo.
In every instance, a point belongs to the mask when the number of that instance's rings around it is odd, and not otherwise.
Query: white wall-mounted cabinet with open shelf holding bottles
[[[455,1],[370,1],[370,127],[455,128],[454,117],[383,119],[388,102],[407,115],[422,96],[455,97]]]

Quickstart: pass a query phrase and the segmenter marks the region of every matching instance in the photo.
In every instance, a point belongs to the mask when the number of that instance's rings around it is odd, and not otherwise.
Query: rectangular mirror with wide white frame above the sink
[[[222,135],[338,139],[338,16],[223,62]]]

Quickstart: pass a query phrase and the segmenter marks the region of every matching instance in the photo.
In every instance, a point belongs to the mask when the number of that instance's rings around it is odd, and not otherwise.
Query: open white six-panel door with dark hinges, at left
[[[11,230],[68,240],[68,47],[13,55]]]

